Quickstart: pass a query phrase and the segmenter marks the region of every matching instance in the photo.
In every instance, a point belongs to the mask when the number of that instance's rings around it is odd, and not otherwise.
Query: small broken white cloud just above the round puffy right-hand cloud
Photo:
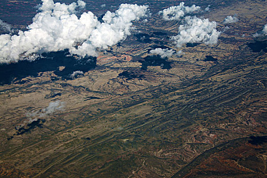
[[[191,7],[184,5],[185,3],[182,2],[179,6],[172,6],[160,11],[159,14],[162,14],[162,18],[164,20],[180,20],[180,18],[185,16],[185,14],[189,14],[200,9],[200,7],[196,5]]]

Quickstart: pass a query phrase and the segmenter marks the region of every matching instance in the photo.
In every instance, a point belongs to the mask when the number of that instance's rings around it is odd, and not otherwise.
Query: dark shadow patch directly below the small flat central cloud
[[[161,58],[160,55],[146,56],[144,61],[140,60],[142,63],[141,69],[147,70],[147,66],[160,66],[162,69],[171,69],[171,62],[166,61],[167,57]]]

